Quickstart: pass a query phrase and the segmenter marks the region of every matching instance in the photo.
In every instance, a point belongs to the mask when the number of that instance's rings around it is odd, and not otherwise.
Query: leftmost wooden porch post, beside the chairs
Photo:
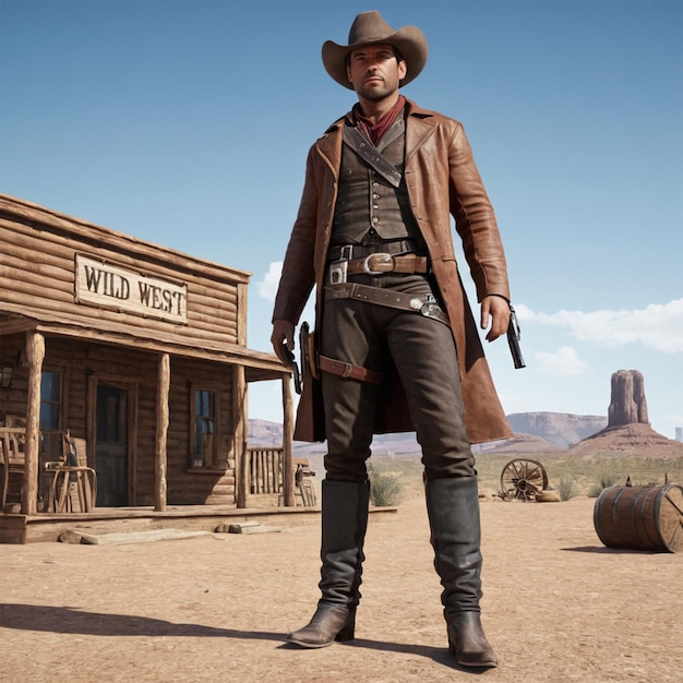
[[[22,513],[38,512],[38,452],[40,450],[40,378],[45,359],[45,337],[34,329],[26,334],[28,362],[28,395],[26,406],[26,444],[24,479],[22,481]]]

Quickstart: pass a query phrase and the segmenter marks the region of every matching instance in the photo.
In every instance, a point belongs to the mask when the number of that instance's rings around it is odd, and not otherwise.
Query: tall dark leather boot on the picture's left
[[[309,624],[287,635],[301,647],[352,639],[360,600],[370,483],[324,479],[322,490],[322,597]]]

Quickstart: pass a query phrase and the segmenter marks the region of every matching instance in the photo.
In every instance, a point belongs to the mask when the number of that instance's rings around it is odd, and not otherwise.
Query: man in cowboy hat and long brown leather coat
[[[366,12],[348,45],[328,40],[322,55],[358,104],[309,152],[273,314],[273,346],[290,363],[295,326],[315,286],[320,381],[304,385],[295,436],[327,439],[322,596],[311,622],[287,640],[324,647],[354,637],[372,436],[415,429],[450,650],[464,666],[495,667],[480,621],[470,443],[511,431],[459,279],[451,214],[489,340],[510,321],[495,217],[463,127],[399,94],[427,61],[418,28],[394,32],[379,12]]]

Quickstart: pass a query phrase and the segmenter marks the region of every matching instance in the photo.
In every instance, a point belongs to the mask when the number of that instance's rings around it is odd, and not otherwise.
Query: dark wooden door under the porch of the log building
[[[95,469],[98,507],[129,504],[128,410],[127,388],[97,384]]]

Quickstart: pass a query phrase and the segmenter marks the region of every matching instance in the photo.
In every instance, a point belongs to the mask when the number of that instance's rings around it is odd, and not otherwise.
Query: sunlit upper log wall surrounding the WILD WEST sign
[[[0,195],[1,304],[7,310],[87,328],[163,334],[169,343],[242,344],[245,272],[142,242]],[[188,287],[188,324],[76,303],[75,255]]]

